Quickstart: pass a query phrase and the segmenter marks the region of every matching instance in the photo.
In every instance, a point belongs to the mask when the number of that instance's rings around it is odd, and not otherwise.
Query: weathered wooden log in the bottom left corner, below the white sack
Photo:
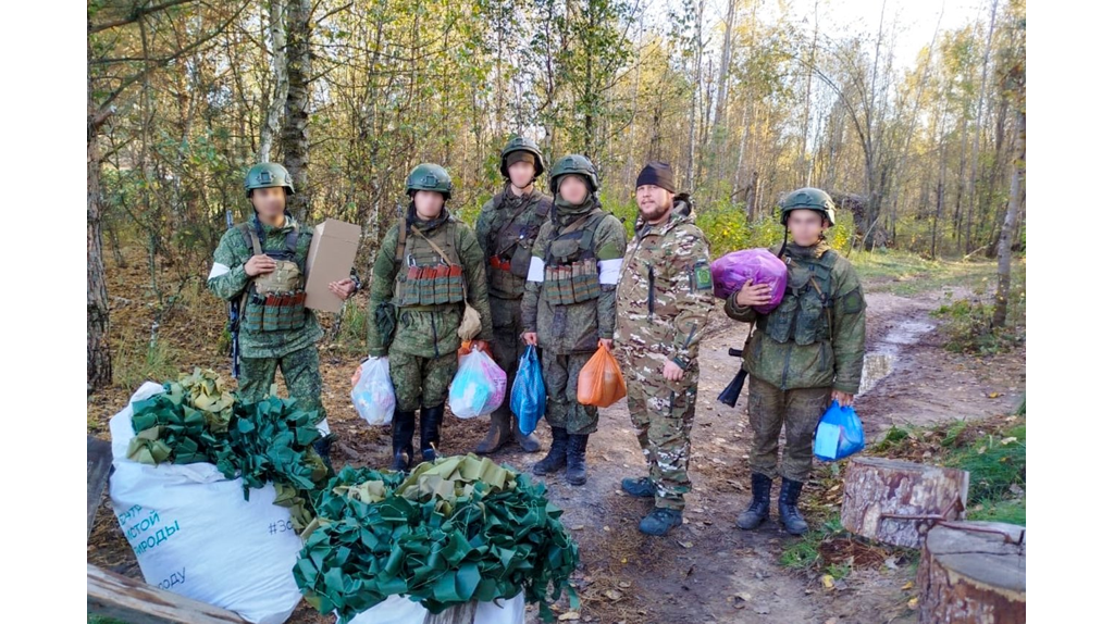
[[[89,613],[133,624],[246,623],[231,611],[88,565]]]

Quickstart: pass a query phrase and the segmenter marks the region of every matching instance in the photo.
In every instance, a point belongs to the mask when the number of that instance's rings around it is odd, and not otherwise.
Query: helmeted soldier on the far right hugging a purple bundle
[[[859,392],[867,303],[851,263],[823,238],[834,221],[836,205],[827,192],[802,188],[789,194],[781,205],[786,240],[771,248],[789,266],[784,298],[770,314],[759,314],[752,306],[768,304],[770,288],[746,284],[724,305],[727,316],[754,327],[743,351],[754,430],[753,497],[739,516],[740,528],[755,528],[770,517],[778,436],[784,426],[779,519],[791,534],[808,531],[797,503],[812,468],[813,430],[832,400],[850,405]]]

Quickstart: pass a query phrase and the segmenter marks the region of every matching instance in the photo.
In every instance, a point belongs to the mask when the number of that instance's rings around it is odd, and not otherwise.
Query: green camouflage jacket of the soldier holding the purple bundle
[[[775,246],[771,251],[778,254],[780,248]],[[786,247],[789,286],[781,306],[789,305],[794,285],[802,291],[812,287],[809,280],[813,270],[811,263],[825,252],[836,255],[830,278],[832,291],[827,294],[831,307],[822,310],[825,314],[820,318],[821,324],[830,324],[830,338],[808,345],[799,345],[792,338],[779,343],[762,329],[761,317],[769,315],[760,315],[749,306],[737,306],[734,296],[724,304],[724,310],[735,320],[758,323],[743,353],[744,366],[751,375],[783,390],[832,387],[857,394],[866,353],[867,301],[851,263],[824,241],[812,247],[790,244]]]

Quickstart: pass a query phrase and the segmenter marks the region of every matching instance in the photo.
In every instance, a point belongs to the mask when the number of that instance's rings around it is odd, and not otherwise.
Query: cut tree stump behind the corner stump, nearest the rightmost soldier
[[[966,471],[856,457],[843,479],[843,528],[907,548],[919,547],[934,522],[962,519]]]

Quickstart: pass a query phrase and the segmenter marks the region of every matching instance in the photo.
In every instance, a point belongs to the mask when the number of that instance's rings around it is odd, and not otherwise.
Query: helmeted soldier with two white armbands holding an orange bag
[[[599,208],[596,168],[584,156],[558,160],[549,190],[556,197],[554,216],[534,242],[522,296],[522,337],[541,348],[546,420],[554,436],[534,474],[565,467],[568,483],[583,485],[588,478],[588,435],[596,430],[599,414],[577,402],[577,377],[598,346],[612,348],[626,231]]]

